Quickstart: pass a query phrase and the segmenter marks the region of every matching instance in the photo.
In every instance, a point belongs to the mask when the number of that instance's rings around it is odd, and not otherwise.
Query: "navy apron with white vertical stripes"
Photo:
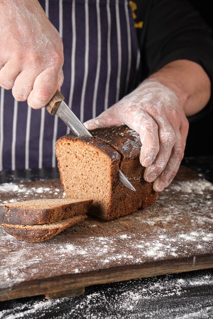
[[[61,92],[82,122],[134,88],[140,54],[127,0],[41,0],[64,44]],[[0,171],[55,167],[55,142],[69,130],[45,109],[0,96]]]

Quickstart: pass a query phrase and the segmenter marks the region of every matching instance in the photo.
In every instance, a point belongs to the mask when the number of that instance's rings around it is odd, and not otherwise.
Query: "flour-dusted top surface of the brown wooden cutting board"
[[[55,193],[55,197],[63,196],[60,188],[45,182],[33,187],[27,183],[2,187],[10,191],[1,192],[1,202],[21,200],[26,194],[31,198],[54,197]],[[35,281],[46,279],[46,274],[50,278],[74,277],[114,268],[121,271],[141,268],[147,264],[153,264],[154,270],[162,260],[168,263],[172,260],[176,265],[180,260],[187,260],[188,270],[199,269],[201,256],[211,256],[213,251],[212,191],[213,185],[202,178],[176,180],[144,210],[106,223],[90,218],[43,243],[20,242],[1,229],[0,288],[10,291],[32,277]],[[206,282],[207,278],[193,281],[194,285],[203,280]],[[181,284],[184,283],[177,283]],[[135,292],[132,299],[137,297]],[[122,309],[127,306],[123,303]]]

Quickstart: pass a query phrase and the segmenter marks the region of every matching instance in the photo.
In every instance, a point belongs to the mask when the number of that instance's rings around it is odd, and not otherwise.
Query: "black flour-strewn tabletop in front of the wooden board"
[[[211,318],[212,285],[211,271],[142,278],[91,286],[79,297],[49,301],[40,296],[9,301],[0,311],[0,318]]]

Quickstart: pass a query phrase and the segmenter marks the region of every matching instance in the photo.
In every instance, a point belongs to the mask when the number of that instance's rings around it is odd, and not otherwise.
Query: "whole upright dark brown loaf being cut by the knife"
[[[144,180],[139,135],[126,125],[91,131],[94,138],[68,134],[56,143],[61,182],[66,197],[92,198],[89,213],[109,221],[151,205],[157,193]],[[119,169],[134,185],[119,180]]]

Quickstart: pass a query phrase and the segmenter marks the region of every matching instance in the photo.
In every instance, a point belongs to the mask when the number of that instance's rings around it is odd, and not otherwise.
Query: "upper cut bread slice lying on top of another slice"
[[[34,199],[0,205],[0,223],[33,225],[85,215],[91,199]]]

